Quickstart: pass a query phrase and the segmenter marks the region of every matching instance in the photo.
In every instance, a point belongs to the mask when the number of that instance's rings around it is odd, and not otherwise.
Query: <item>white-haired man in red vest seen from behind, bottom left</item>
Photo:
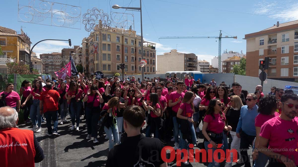
[[[16,128],[18,113],[9,106],[0,108],[0,166],[34,167],[44,159],[32,130]]]

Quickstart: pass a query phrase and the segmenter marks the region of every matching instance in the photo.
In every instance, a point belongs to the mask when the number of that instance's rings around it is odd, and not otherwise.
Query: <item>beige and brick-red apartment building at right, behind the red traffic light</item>
[[[246,34],[246,75],[258,77],[259,61],[272,60],[267,78],[298,80],[298,20],[279,23],[259,32]]]

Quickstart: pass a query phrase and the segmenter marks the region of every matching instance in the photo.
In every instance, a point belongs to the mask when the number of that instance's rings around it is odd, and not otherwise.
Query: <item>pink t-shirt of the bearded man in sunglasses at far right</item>
[[[262,125],[260,136],[268,139],[269,149],[278,154],[284,155],[298,165],[297,149],[298,141],[298,119],[295,117],[291,121],[286,121],[276,116],[269,119]],[[290,151],[289,151],[290,150]],[[291,151],[292,150],[292,151]]]

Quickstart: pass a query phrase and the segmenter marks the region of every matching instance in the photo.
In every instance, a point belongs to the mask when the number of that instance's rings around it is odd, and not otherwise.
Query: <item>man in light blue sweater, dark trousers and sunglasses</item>
[[[257,96],[253,93],[247,94],[246,104],[241,107],[240,118],[236,129],[236,136],[240,138],[240,154],[245,166],[250,165],[247,149],[256,137],[254,119],[258,115]]]

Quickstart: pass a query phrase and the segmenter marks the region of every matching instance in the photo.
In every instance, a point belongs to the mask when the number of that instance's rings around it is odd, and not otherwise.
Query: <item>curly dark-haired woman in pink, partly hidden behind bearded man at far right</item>
[[[260,130],[262,125],[271,118],[278,116],[279,114],[275,112],[277,100],[273,95],[266,95],[260,99],[258,114],[255,118],[254,126],[256,127],[256,138],[254,139],[254,146],[252,148],[253,153],[253,160],[254,160],[254,167],[258,166],[266,166],[266,163],[269,157],[261,152],[258,151],[258,144],[260,138]]]

